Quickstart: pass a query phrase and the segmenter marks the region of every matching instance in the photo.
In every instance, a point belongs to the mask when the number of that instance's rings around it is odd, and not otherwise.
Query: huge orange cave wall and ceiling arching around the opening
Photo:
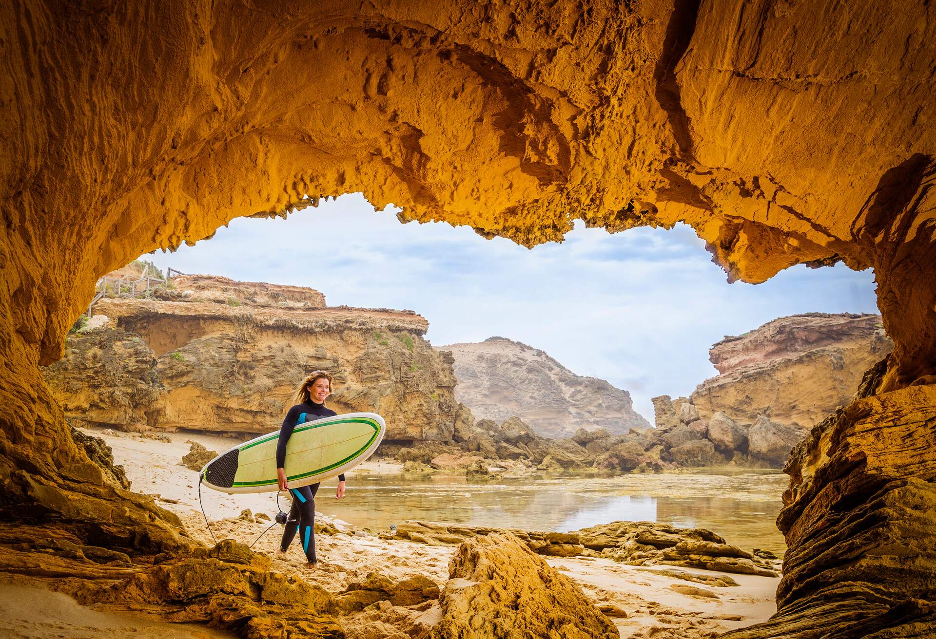
[[[5,522],[88,547],[180,547],[152,500],[103,486],[38,370],[63,356],[96,278],[136,255],[358,191],[403,221],[528,246],[576,220],[681,221],[731,280],[873,268],[894,343],[866,397],[790,467],[780,607],[748,635],[929,632],[933,10],[4,4]]]

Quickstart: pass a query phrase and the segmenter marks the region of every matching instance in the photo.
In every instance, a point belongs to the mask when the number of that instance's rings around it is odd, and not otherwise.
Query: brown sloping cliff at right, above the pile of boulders
[[[703,418],[722,411],[742,424],[812,428],[847,404],[862,375],[890,353],[879,315],[808,313],[781,317],[714,344],[721,373],[690,398]]]

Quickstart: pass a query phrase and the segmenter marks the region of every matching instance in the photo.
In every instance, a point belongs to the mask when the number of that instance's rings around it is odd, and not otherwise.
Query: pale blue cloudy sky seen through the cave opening
[[[873,273],[844,265],[727,283],[692,228],[608,234],[580,223],[534,249],[468,227],[402,225],[359,194],[285,220],[238,218],[211,240],[143,256],[160,269],[310,286],[329,306],[411,309],[435,346],[499,335],[578,375],[651,398],[688,396],[717,374],[709,347],[801,312],[878,312]]]

